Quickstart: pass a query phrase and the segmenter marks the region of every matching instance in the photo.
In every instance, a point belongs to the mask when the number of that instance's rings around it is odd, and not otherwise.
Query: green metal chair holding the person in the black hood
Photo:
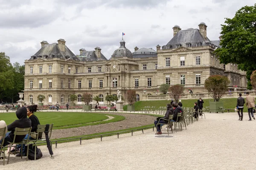
[[[29,145],[28,145],[28,143],[29,143],[31,128],[32,127],[28,127],[28,128],[18,128],[18,127],[16,127],[15,131],[14,131],[13,141],[8,142],[9,144],[11,144],[10,148],[12,148],[12,145],[14,145],[14,144],[16,144],[16,146],[17,146],[17,144],[21,144],[21,148],[23,147],[23,144],[27,144],[27,153],[26,153],[26,160],[27,161],[28,161],[28,154],[29,154]],[[23,139],[21,142],[15,142],[15,139],[16,139],[17,135],[27,135],[27,134],[29,134],[28,139],[25,139],[25,140]],[[16,152],[16,147],[15,147],[15,152]],[[9,164],[10,153],[11,152],[9,152],[7,164]],[[21,150],[21,159],[22,159],[22,150]]]

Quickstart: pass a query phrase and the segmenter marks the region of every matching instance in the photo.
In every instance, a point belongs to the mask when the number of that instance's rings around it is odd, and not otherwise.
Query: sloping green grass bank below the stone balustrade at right
[[[198,99],[182,99],[182,105],[183,107],[194,107],[194,102],[197,102]],[[203,99],[204,100],[204,108],[206,106],[209,106],[209,100],[213,101],[213,99]],[[236,108],[236,98],[230,98],[230,99],[221,99],[220,101],[224,102],[224,108]],[[139,101],[135,102],[135,111],[140,111],[140,109],[143,109],[145,106],[155,106],[156,108],[159,108],[160,106],[166,106],[168,103],[170,103],[170,100],[155,100],[155,101]],[[124,106],[124,110],[127,110],[127,105]],[[244,111],[247,111],[247,107],[244,104]]]

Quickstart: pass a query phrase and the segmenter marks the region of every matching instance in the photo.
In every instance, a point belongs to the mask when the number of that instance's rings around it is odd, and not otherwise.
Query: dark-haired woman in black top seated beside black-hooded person
[[[31,127],[32,127],[31,132],[36,133],[37,127],[38,127],[38,125],[40,125],[40,122],[39,122],[37,116],[35,116],[35,114],[34,114],[38,110],[37,105],[27,106],[26,110],[27,110],[27,116],[29,116],[29,119],[31,120]],[[28,136],[29,135],[27,134],[24,139],[27,139]],[[36,139],[36,137],[37,137],[36,135],[32,134],[29,137],[29,139]],[[39,133],[38,134],[38,139],[41,139],[41,138],[42,138],[42,133]],[[17,145],[17,148],[20,148],[20,151],[21,151],[21,144]],[[11,153],[14,153],[14,152],[15,152],[15,150],[11,150]],[[17,150],[16,150],[16,152],[17,152]],[[25,156],[25,144],[23,144],[22,154],[23,154],[23,156]],[[21,152],[18,153],[16,156],[21,156]]]

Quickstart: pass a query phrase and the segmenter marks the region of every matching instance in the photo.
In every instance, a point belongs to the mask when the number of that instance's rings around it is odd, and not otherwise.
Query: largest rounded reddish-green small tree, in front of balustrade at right
[[[210,93],[214,101],[218,102],[221,96],[228,90],[230,81],[225,76],[214,75],[204,81],[204,88]]]

